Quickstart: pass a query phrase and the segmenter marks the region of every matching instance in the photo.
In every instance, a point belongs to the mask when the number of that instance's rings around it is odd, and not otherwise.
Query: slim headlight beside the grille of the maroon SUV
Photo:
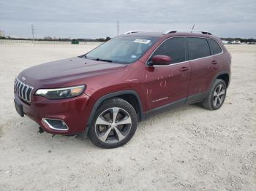
[[[48,99],[64,99],[73,98],[81,95],[85,89],[84,85],[78,85],[73,87],[61,87],[54,89],[39,89],[35,95],[41,95]]]

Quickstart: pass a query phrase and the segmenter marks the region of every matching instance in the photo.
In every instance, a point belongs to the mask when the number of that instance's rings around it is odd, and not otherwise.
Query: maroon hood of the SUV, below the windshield
[[[87,77],[114,72],[125,66],[75,57],[33,66],[22,71],[18,78],[25,79],[23,82],[29,85],[54,87],[58,84],[59,87],[61,84],[67,85]]]

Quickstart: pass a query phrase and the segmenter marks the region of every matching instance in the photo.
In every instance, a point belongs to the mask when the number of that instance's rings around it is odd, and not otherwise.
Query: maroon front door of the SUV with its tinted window
[[[148,97],[148,109],[167,104],[184,104],[189,89],[190,66],[186,61],[184,37],[172,37],[157,47],[154,55],[167,55],[171,64],[167,66],[146,66],[145,92]]]

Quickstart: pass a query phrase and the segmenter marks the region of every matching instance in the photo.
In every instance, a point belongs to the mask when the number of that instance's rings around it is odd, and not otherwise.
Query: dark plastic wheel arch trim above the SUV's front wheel
[[[87,125],[86,125],[86,131],[88,132],[91,122],[94,119],[94,114],[97,111],[100,104],[102,104],[104,101],[110,99],[110,98],[122,98],[125,101],[127,101],[129,104],[131,104],[138,115],[138,122],[142,121],[144,119],[144,113],[143,113],[143,106],[140,101],[140,95],[135,90],[121,90],[114,93],[108,93],[106,95],[102,95],[94,104],[93,108],[91,109],[91,114],[89,116]]]

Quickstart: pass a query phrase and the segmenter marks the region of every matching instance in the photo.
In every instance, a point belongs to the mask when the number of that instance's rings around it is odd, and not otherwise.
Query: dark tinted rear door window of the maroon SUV
[[[189,60],[203,58],[210,55],[210,47],[206,39],[188,37],[187,38]]]

